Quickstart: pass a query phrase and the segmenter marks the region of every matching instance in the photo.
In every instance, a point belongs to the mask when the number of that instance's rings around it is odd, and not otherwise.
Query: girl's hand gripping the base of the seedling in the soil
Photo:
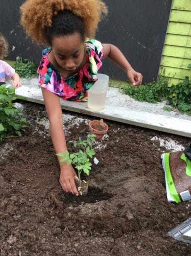
[[[62,188],[65,192],[72,192],[73,195],[78,196],[75,180],[78,180],[78,177],[71,165],[61,168],[60,183]]]

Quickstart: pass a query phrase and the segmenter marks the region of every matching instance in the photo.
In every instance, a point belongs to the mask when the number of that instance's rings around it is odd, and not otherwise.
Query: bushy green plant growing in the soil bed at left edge
[[[15,88],[3,84],[0,86],[0,142],[13,135],[21,136],[25,131],[26,119],[20,118],[20,109],[14,106]]]

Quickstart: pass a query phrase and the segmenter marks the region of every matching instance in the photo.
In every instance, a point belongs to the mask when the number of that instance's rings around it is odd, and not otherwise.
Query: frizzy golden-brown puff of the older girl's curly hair
[[[60,11],[68,10],[80,17],[89,38],[94,37],[98,22],[107,14],[102,0],[27,0],[20,10],[26,34],[38,44],[49,44],[45,29],[52,26],[52,17]]]

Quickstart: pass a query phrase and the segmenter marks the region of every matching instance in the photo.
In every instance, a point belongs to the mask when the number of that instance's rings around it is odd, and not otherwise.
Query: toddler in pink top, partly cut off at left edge
[[[0,33],[0,85],[4,84],[5,78],[12,78],[12,85],[17,88],[22,86],[19,75],[15,72],[14,68],[5,61],[2,61],[8,54],[8,47],[8,43]]]

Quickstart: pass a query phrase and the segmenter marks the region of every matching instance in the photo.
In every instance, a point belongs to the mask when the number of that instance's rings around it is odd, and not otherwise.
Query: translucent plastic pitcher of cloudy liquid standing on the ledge
[[[98,80],[88,90],[87,106],[93,110],[101,110],[105,107],[109,76],[97,74]]]

